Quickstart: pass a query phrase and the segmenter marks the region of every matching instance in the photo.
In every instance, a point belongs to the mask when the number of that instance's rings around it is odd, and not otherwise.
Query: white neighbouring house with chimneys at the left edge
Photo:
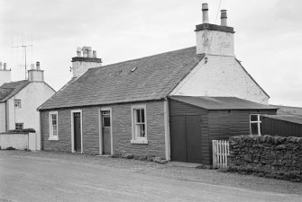
[[[37,149],[41,148],[40,113],[37,108],[55,91],[44,82],[43,70],[28,70],[28,80],[11,82],[11,70],[0,66],[0,133],[14,129],[33,128]]]

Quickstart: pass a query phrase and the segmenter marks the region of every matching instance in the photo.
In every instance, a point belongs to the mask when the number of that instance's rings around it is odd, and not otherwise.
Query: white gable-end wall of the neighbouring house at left
[[[41,148],[40,113],[37,108],[47,101],[55,92],[43,82],[32,82],[18,92],[9,103],[9,129],[15,123],[23,123],[24,128],[33,128],[37,134],[37,147]],[[21,100],[21,108],[14,108],[14,99]]]

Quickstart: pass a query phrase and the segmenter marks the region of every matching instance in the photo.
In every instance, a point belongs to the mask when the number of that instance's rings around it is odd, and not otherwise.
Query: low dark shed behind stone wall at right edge
[[[302,137],[302,116],[266,115],[261,116],[261,132],[271,136]]]

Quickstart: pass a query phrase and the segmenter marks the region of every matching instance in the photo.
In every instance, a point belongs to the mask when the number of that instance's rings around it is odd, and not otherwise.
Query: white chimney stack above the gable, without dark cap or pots
[[[225,31],[197,31],[197,54],[234,56],[233,33]]]

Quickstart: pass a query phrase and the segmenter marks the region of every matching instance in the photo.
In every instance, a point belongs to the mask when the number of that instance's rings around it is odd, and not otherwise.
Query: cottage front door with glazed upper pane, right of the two
[[[102,147],[103,154],[111,154],[110,110],[102,110]]]

